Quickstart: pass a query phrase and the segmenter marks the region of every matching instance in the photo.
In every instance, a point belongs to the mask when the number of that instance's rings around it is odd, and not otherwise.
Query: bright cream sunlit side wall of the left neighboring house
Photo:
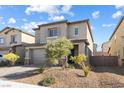
[[[21,42],[23,43],[35,43],[35,37],[21,33]]]

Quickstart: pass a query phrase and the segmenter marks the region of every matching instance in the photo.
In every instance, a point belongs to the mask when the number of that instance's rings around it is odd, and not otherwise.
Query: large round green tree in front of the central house
[[[65,37],[58,38],[48,43],[47,54],[50,59],[49,61],[57,63],[57,60],[68,56],[71,49],[73,49],[73,44]]]

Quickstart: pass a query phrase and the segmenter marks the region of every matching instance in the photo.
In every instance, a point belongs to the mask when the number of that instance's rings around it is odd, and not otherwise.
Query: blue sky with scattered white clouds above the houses
[[[124,6],[0,6],[0,30],[10,26],[34,34],[32,28],[38,24],[89,19],[94,41],[100,47],[109,39],[123,14]]]

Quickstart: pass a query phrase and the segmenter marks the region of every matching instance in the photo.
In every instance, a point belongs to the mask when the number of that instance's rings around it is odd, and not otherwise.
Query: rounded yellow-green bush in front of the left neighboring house
[[[8,53],[8,54],[5,54],[3,58],[9,61],[10,65],[14,65],[20,57],[14,53]]]

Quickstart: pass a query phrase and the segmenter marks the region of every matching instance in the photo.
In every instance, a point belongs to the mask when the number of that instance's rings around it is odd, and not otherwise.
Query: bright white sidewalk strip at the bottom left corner
[[[29,85],[12,81],[0,80],[0,88],[45,88],[37,85]]]

